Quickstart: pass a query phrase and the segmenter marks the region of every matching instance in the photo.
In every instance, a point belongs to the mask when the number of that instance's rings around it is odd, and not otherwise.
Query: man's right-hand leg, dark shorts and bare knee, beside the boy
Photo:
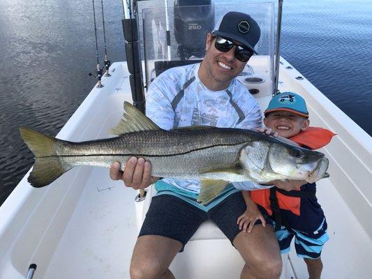
[[[282,262],[274,228],[268,224],[262,227],[258,221],[251,233],[242,232],[237,218],[245,210],[246,203],[238,192],[211,209],[210,216],[246,262],[241,278],[279,278]]]

